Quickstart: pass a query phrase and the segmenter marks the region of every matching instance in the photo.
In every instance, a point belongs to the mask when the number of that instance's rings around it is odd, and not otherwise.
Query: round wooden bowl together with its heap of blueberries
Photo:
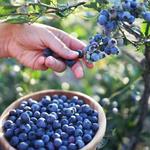
[[[5,109],[0,117],[0,148],[96,150],[105,130],[105,113],[93,98],[75,91],[39,91]]]

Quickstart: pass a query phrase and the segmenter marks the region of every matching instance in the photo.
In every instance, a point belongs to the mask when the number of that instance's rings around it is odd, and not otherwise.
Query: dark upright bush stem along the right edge
[[[144,126],[144,120],[148,113],[148,101],[150,99],[150,47],[145,46],[145,65],[144,65],[144,72],[143,72],[143,80],[144,80],[144,92],[142,98],[140,100],[139,105],[139,119],[137,122],[136,129],[132,133],[130,137],[130,142],[128,145],[129,150],[135,150],[137,143],[140,141],[140,134],[142,132]]]

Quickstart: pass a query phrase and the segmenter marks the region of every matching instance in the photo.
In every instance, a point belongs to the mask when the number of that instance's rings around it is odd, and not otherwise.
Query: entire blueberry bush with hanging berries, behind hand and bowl
[[[84,40],[85,58],[96,62],[78,81],[69,69],[61,74],[33,71],[15,60],[1,59],[1,113],[30,92],[77,90],[105,109],[107,132],[98,149],[150,148],[149,0],[0,0],[0,18],[58,27]]]

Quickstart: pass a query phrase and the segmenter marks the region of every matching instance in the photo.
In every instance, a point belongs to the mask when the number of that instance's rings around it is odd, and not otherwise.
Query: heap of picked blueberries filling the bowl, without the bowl
[[[78,150],[98,131],[98,112],[77,96],[30,98],[10,111],[3,129],[18,150]]]

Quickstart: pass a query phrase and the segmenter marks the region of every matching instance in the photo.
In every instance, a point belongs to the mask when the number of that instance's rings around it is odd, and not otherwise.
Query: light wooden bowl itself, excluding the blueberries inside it
[[[14,101],[9,107],[7,107],[0,117],[0,148],[2,147],[2,150],[15,150],[5,139],[4,131],[3,131],[3,124],[7,119],[9,112],[12,109],[17,108],[20,102],[23,100],[33,98],[34,100],[39,101],[45,95],[51,96],[54,94],[58,94],[58,95],[64,94],[69,98],[76,95],[80,99],[83,99],[85,103],[89,104],[92,108],[98,111],[98,115],[99,115],[98,119],[99,119],[99,126],[100,126],[99,130],[97,131],[92,141],[82,148],[82,150],[96,150],[97,144],[102,140],[106,130],[106,117],[102,107],[95,100],[93,100],[91,97],[85,94],[82,94],[80,92],[75,92],[75,91],[62,91],[62,90],[44,90],[44,91],[32,93],[22,98],[19,98],[18,100]]]

